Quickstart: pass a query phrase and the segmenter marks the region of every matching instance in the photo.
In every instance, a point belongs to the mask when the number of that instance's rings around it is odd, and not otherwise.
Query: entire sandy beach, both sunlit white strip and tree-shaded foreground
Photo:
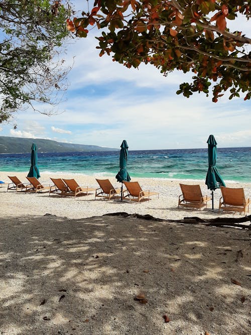
[[[0,172],[10,182],[27,173]],[[41,173],[98,187],[104,176]],[[114,187],[120,187],[110,178]],[[135,179],[133,178],[132,181]],[[236,217],[214,208],[178,209],[179,182],[138,178],[159,199],[141,203],[94,200],[94,193],[59,197],[0,187],[2,334],[205,334],[247,335],[250,329],[250,231],[184,225],[107,213]],[[251,184],[244,187],[251,196]],[[135,300],[144,293],[146,303]],[[169,322],[163,318],[167,315]],[[168,320],[167,319],[167,320]]]

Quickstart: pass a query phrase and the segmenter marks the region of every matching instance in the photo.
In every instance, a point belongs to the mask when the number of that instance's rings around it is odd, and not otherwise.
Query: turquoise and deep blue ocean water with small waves
[[[29,172],[30,154],[1,154],[0,171]],[[119,151],[38,152],[40,172],[115,176]],[[224,181],[251,183],[251,148],[217,148],[217,169]],[[130,151],[131,177],[205,180],[207,149]]]

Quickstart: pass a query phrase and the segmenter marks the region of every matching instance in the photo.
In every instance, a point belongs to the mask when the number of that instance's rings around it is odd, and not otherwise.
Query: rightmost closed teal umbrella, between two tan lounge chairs
[[[207,188],[212,191],[212,209],[213,209],[213,191],[220,186],[226,186],[223,179],[221,178],[219,172],[216,168],[217,160],[217,142],[213,135],[210,135],[208,140],[208,171],[206,175],[206,185]]]

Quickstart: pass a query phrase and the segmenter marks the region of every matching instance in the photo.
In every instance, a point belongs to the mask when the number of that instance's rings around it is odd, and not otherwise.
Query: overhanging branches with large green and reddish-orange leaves
[[[89,4],[89,2],[88,2]],[[193,92],[213,98],[229,91],[229,99],[250,90],[251,40],[228,29],[228,20],[250,18],[250,1],[243,0],[95,0],[82,17],[67,21],[67,28],[86,37],[89,28],[102,30],[97,37],[100,56],[112,55],[127,67],[142,62],[167,75],[174,69],[193,71],[192,83],[180,84],[178,94]]]

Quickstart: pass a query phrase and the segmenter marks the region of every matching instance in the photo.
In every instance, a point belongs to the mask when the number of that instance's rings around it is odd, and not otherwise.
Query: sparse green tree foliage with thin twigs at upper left
[[[70,15],[60,1],[0,0],[0,123],[36,101],[55,103],[65,89],[57,56]]]

